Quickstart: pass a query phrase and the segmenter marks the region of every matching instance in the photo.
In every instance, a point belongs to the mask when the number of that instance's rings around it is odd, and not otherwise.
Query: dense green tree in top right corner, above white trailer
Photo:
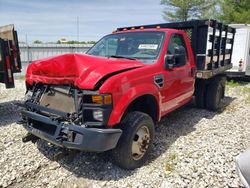
[[[225,23],[250,23],[249,0],[222,0],[220,20]]]

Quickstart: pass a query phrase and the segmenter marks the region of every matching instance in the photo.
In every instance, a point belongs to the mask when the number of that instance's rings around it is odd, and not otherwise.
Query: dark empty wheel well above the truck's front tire
[[[126,113],[139,111],[148,114],[153,121],[158,121],[158,104],[153,95],[143,95],[136,98],[127,108]]]

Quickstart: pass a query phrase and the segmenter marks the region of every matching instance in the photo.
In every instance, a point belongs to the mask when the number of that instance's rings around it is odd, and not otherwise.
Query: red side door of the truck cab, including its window
[[[179,58],[176,53],[185,54]],[[164,89],[163,89],[163,113],[172,111],[182,105],[185,99],[192,95],[194,76],[191,74],[191,66],[187,53],[187,47],[182,34],[174,33],[170,36],[166,51],[169,63],[172,68],[164,71]]]

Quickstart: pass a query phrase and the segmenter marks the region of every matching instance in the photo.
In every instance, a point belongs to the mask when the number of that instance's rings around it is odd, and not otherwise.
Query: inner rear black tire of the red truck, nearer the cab
[[[195,82],[195,104],[198,108],[206,107],[206,83],[204,80]]]

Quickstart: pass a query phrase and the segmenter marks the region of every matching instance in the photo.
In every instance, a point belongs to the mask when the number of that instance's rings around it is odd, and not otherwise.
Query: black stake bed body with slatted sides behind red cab
[[[232,52],[236,30],[216,20],[191,20],[117,28],[124,29],[170,28],[184,30],[191,43],[197,78],[208,79],[232,68]]]

